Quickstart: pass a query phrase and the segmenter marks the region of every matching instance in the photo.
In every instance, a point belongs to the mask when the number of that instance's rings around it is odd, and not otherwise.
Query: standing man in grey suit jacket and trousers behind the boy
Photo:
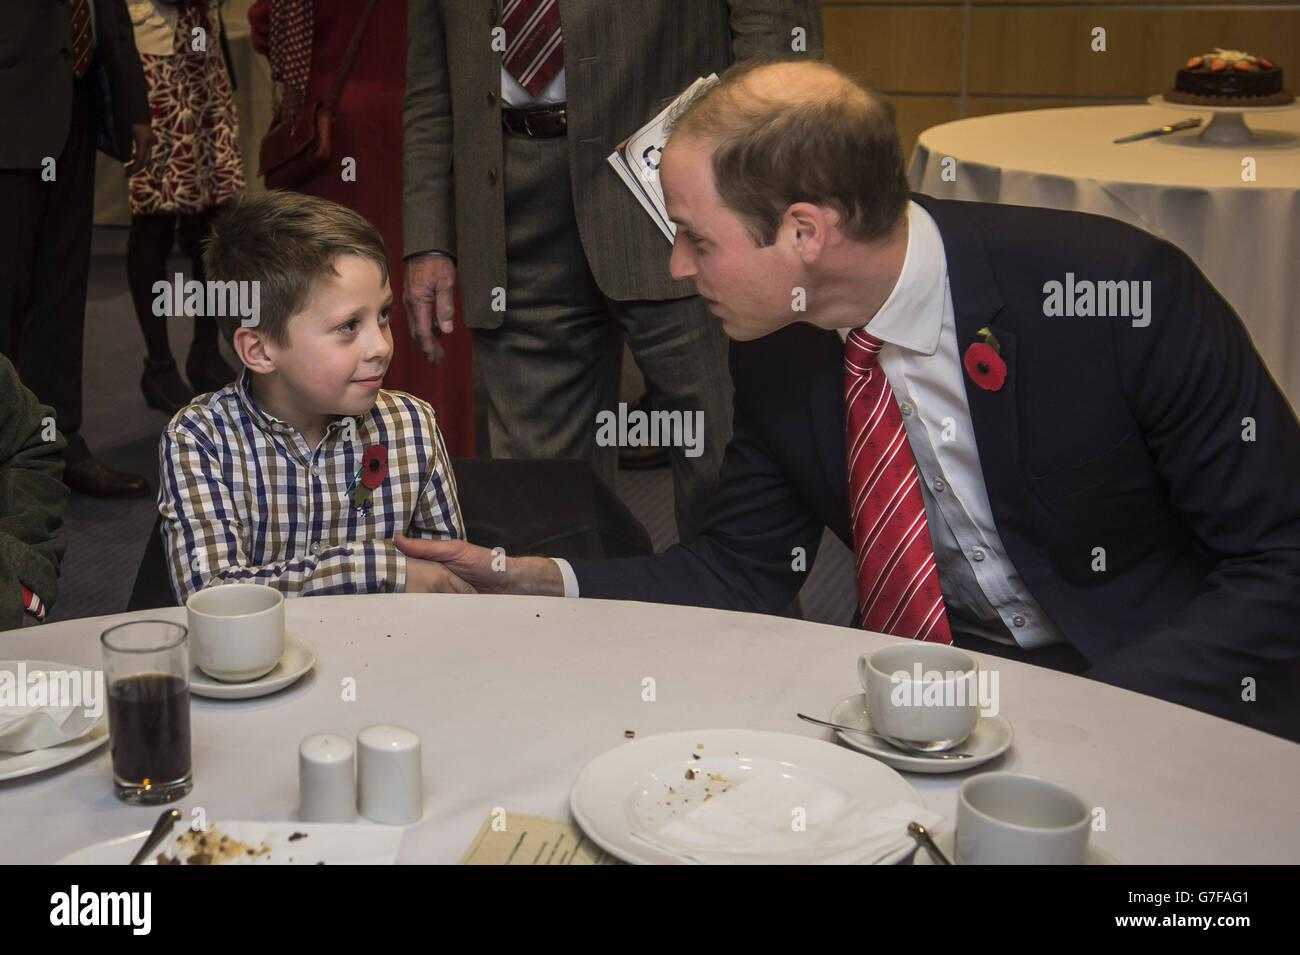
[[[415,0],[403,233],[412,334],[438,359],[460,279],[494,457],[581,457],[611,487],[623,340],[656,409],[703,414],[670,459],[703,521],[731,430],[725,338],[606,157],[702,75],[822,45],[816,0]],[[692,417],[692,421],[697,420]],[[689,453],[688,453],[689,451]]]

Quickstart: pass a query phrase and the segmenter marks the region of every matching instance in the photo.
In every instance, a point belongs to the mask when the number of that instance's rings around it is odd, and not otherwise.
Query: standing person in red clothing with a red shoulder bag
[[[257,0],[248,8],[254,49],[270,61],[277,118],[325,100],[365,0]],[[402,95],[406,88],[407,5],[382,0],[361,35],[334,113],[330,161],[296,185],[299,192],[346,205],[374,223],[389,252],[389,282],[402,287]],[[347,160],[351,160],[348,164]],[[410,342],[400,296],[393,307],[394,353],[384,387],[434,407],[452,457],[473,446],[469,340],[448,340],[437,368]]]

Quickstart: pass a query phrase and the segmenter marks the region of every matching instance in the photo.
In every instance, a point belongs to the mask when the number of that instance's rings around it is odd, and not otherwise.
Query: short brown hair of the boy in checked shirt
[[[300,312],[312,283],[334,274],[341,255],[368,259],[389,278],[389,256],[378,230],[347,207],[302,192],[273,191],[240,199],[212,225],[203,251],[208,281],[257,282],[257,331],[289,342],[289,318]],[[217,318],[228,342],[239,316]]]

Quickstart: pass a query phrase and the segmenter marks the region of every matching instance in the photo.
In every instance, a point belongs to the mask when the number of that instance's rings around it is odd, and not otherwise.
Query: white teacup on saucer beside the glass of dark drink
[[[261,583],[225,583],[185,602],[195,665],[213,680],[247,683],[285,652],[285,595]]]

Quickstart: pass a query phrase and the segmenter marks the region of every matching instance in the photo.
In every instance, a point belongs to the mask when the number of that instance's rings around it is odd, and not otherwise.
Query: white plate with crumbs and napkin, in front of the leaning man
[[[745,729],[627,742],[582,768],[575,821],[629,863],[897,863],[937,820],[897,772],[824,739]]]

